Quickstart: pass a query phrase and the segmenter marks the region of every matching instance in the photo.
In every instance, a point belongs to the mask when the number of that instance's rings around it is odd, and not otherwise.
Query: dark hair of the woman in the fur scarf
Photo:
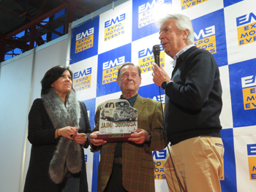
[[[52,88],[51,85],[53,84],[53,82],[55,82],[56,80],[59,80],[59,77],[61,77],[61,75],[66,70],[69,71],[71,75],[71,79],[73,79],[73,73],[68,66],[63,66],[63,65],[53,66],[53,68],[49,69],[48,72],[45,73],[45,76],[42,77],[42,80],[41,80],[41,84],[42,84],[41,96],[49,92],[50,88]]]

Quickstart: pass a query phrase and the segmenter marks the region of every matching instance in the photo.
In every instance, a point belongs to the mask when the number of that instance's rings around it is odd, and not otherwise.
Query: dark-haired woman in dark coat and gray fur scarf
[[[32,147],[24,192],[88,191],[83,147],[89,146],[91,126],[86,105],[72,89],[72,72],[54,66],[41,83],[41,99],[29,112]]]

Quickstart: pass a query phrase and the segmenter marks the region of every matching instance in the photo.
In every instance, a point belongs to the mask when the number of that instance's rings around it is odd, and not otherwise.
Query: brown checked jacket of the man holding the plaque
[[[100,104],[95,115],[95,128],[99,130]],[[124,142],[122,145],[123,185],[129,192],[155,191],[154,160],[152,150],[163,150],[165,145],[161,104],[153,99],[137,96],[134,106],[138,110],[138,128],[151,132],[151,145]],[[104,191],[113,167],[116,142],[91,147],[100,151],[97,191]],[[93,150],[94,149],[94,150]],[[96,150],[95,150],[96,149]]]

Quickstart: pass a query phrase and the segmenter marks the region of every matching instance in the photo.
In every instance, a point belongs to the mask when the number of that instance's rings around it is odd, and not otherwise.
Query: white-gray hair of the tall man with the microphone
[[[165,16],[165,18],[162,18],[157,21],[157,26],[159,28],[162,26],[163,23],[165,23],[166,20],[169,19],[175,19],[176,20],[176,26],[178,30],[185,31],[186,29],[189,30],[189,34],[187,36],[187,41],[190,42],[190,44],[194,44],[194,29],[192,26],[191,20],[186,16],[179,13],[176,14],[168,14]]]

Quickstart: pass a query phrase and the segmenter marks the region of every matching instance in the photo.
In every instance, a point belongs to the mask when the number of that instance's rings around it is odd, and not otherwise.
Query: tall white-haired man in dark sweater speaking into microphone
[[[159,27],[162,47],[174,66],[171,78],[156,64],[152,74],[155,84],[165,90],[164,123],[174,164],[167,155],[164,170],[169,191],[221,191],[219,68],[211,53],[195,47],[187,16],[167,15]]]

